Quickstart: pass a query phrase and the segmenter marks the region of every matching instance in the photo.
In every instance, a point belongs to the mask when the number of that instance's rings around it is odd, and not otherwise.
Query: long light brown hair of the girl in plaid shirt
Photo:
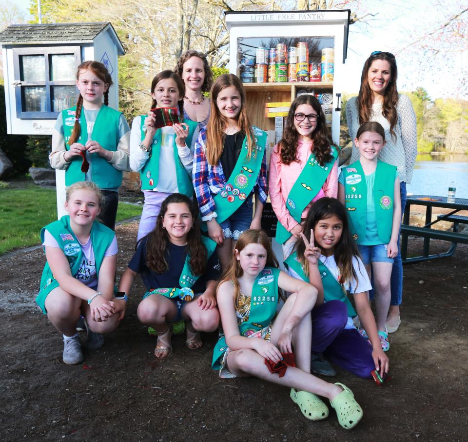
[[[249,146],[247,150],[247,158],[250,159],[252,150],[254,149],[254,136],[252,134],[252,128],[245,106],[244,86],[242,86],[241,81],[234,74],[220,75],[215,80],[213,87],[211,88],[211,112],[210,119],[206,126],[206,159],[212,166],[215,166],[218,163],[221,158],[221,154],[223,153],[224,139],[226,137],[224,129],[227,122],[226,117],[221,115],[221,112],[219,112],[216,99],[223,89],[231,86],[237,89],[237,92],[239,92],[240,95],[241,107],[238,115],[238,125],[247,137]]]

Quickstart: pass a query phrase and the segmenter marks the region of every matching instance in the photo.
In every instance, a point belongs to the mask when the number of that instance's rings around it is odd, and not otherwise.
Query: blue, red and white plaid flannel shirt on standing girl
[[[201,216],[215,212],[216,206],[213,197],[223,189],[227,181],[221,163],[218,162],[218,164],[212,166],[206,159],[205,150],[206,129],[203,128],[200,130],[198,139],[195,142],[195,157],[192,172],[196,200],[198,201]],[[266,155],[263,156],[260,173],[255,182],[254,190],[249,197],[254,193],[256,193],[260,201],[265,204],[268,195]]]

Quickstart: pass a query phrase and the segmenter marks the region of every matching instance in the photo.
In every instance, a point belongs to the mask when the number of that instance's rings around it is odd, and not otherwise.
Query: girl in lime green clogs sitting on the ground
[[[276,315],[278,287],[292,295]],[[330,400],[344,428],[361,420],[363,412],[349,388],[310,373],[310,311],[317,289],[278,269],[265,232],[249,229],[239,237],[216,299],[223,331],[212,366],[221,378],[256,376],[290,387],[292,401],[312,421],[325,419],[329,412],[317,395]],[[281,367],[284,361],[286,369]]]

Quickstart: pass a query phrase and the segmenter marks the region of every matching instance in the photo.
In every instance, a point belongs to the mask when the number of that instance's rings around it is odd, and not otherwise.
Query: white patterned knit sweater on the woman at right
[[[414,162],[418,153],[416,143],[416,115],[411,101],[406,95],[398,95],[396,111],[398,121],[394,127],[395,137],[391,137],[390,123],[382,115],[380,103],[372,104],[372,117],[370,121],[382,124],[385,130],[387,143],[380,151],[379,159],[392,164],[398,169],[400,181],[411,182]],[[359,159],[359,150],[354,145],[357,130],[359,129],[359,112],[357,110],[357,97],[352,97],[346,105],[346,118],[348,119],[348,131],[352,140],[351,162]]]

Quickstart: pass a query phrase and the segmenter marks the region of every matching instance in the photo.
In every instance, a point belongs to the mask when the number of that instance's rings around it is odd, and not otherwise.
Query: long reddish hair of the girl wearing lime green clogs
[[[268,267],[279,267],[278,260],[274,256],[272,245],[268,240],[267,234],[260,229],[248,229],[245,230],[235,243],[235,250],[239,253],[244,250],[249,244],[260,244],[267,251],[267,261],[265,266]],[[231,256],[231,261],[228,267],[224,270],[221,278],[216,283],[216,292],[219,285],[224,281],[233,281],[234,284],[234,299],[237,299],[240,293],[239,282],[237,281],[244,274],[244,270],[240,266],[240,261],[235,257],[235,252]]]

